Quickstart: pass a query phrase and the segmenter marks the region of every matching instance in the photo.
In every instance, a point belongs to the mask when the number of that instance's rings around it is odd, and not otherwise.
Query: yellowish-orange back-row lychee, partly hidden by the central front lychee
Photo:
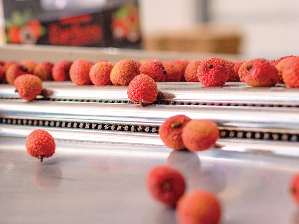
[[[117,62],[110,73],[110,80],[114,85],[129,85],[135,76],[139,75],[138,65],[134,60],[121,60]]]

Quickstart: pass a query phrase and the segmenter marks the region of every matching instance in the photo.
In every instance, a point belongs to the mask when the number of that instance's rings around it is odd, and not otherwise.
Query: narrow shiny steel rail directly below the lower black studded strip
[[[30,127],[22,125],[0,125],[0,136],[23,137],[26,138],[32,131],[41,129],[40,127]],[[126,143],[163,145],[158,134],[141,133],[130,131],[111,131],[111,130],[86,130],[69,128],[43,127],[54,139],[77,142],[109,142],[109,143]],[[85,144],[85,143],[81,143]],[[224,151],[269,151],[273,154],[299,156],[298,142],[258,140],[258,139],[218,139],[215,144],[219,150]],[[147,146],[145,146],[147,147]]]

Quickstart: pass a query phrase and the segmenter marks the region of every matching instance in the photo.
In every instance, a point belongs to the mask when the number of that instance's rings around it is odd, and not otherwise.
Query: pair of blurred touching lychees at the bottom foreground
[[[176,208],[181,224],[217,224],[221,205],[210,192],[196,189],[185,194],[186,182],[182,174],[167,166],[153,167],[147,174],[146,184],[150,195],[158,202]]]

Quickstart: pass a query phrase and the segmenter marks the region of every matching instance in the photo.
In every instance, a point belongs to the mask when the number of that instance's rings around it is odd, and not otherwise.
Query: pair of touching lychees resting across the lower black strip
[[[165,119],[159,127],[159,135],[162,142],[174,150],[203,151],[215,144],[219,129],[210,120],[176,115]]]

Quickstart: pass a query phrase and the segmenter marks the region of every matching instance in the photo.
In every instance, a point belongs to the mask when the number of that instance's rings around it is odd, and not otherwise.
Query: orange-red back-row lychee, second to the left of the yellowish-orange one
[[[86,59],[78,59],[70,67],[70,78],[75,85],[89,85],[91,80],[89,78],[89,71],[91,66],[94,65]]]

